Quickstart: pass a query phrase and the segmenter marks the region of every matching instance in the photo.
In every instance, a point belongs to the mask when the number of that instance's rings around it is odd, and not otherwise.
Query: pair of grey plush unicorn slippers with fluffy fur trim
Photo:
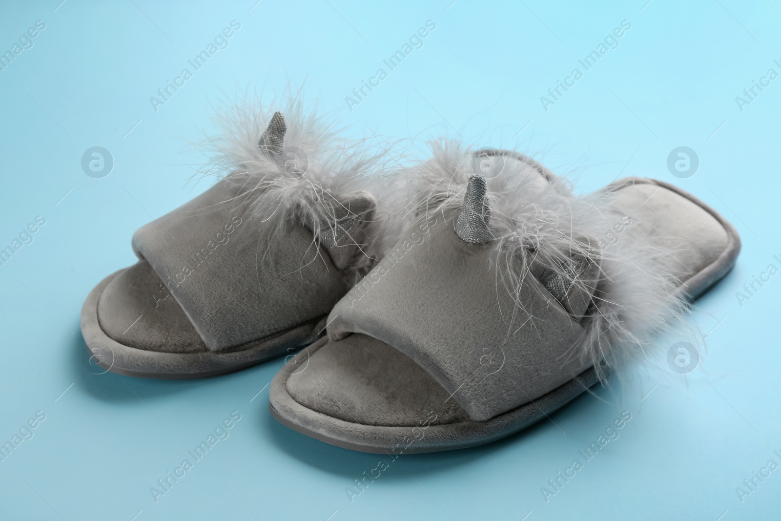
[[[577,196],[525,155],[448,141],[388,171],[300,105],[235,116],[216,145],[228,173],[136,231],[138,262],[84,302],[84,339],[109,371],[169,379],[298,351],[270,410],[340,447],[522,430],[644,358],[740,251],[662,181]]]

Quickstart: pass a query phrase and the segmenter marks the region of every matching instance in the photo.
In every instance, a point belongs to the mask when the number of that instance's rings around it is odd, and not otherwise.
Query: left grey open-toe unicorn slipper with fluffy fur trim
[[[368,190],[387,184],[366,177],[381,167],[368,148],[298,102],[287,121],[241,106],[223,123],[212,145],[230,173],[137,230],[138,262],[84,302],[87,349],[106,370],[193,378],[292,352],[380,258],[388,205]]]

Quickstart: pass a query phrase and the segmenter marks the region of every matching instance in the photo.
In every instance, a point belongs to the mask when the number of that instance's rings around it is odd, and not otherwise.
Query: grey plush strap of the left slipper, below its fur
[[[347,291],[308,228],[252,219],[240,192],[221,180],[133,236],[213,351],[324,316]]]

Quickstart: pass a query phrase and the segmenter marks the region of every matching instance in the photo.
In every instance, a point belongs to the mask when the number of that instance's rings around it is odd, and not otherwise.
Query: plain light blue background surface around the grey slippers
[[[0,268],[0,441],[34,412],[46,415],[0,462],[0,517],[779,519],[781,469],[742,503],[735,489],[769,459],[781,464],[773,454],[781,452],[781,275],[743,306],[736,299],[753,275],[779,266],[781,79],[743,112],[735,98],[769,68],[781,72],[773,63],[781,10],[645,1],[0,7],[0,51],[36,20],[46,23],[34,47],[0,72],[0,244],[35,216],[46,219]],[[149,97],[231,20],[241,30],[230,46],[155,112]],[[437,28],[424,47],[349,112],[344,97],[426,20]],[[622,20],[632,28],[619,47],[546,112],[540,96]],[[82,302],[134,262],[137,227],[205,189],[190,180],[203,157],[189,142],[211,132],[209,103],[303,80],[306,98],[353,137],[461,134],[537,154],[580,191],[637,175],[713,205],[744,247],[691,313],[710,332],[701,365],[689,376],[631,371],[505,441],[402,457],[354,502],[345,488],[380,457],[314,441],[269,416],[265,386],[281,359],[208,380],[91,374]],[[103,179],[80,168],[95,145],[115,161]],[[688,179],[665,166],[681,145],[701,161]],[[230,437],[155,503],[150,487],[234,410],[242,418]],[[540,488],[624,410],[633,419],[619,439],[546,503]]]

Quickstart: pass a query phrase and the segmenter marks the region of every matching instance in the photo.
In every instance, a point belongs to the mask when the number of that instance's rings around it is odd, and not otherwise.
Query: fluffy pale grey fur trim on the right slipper
[[[473,149],[458,142],[436,141],[431,146],[433,159],[410,170],[417,182],[416,208],[429,215],[450,214],[462,208],[469,176],[481,173],[476,170],[479,162]],[[676,322],[687,327],[682,317],[686,301],[672,276],[672,252],[632,234],[609,248],[594,248],[622,218],[612,207],[615,194],[576,196],[567,181],[548,176],[524,155],[517,157],[520,160],[505,156],[501,173],[487,176],[486,195],[497,291],[503,288],[515,300],[515,309],[505,317],[508,331],[534,320],[534,310],[519,299],[525,278],[547,272],[571,279],[572,258],[582,256],[597,262],[601,278],[596,291],[593,282],[590,287],[584,280],[574,282],[581,291],[594,291],[594,299],[585,316],[575,317],[585,334],[568,355],[590,362],[602,379],[608,369],[649,359],[647,348],[655,334]],[[540,182],[540,174],[548,177],[545,182]]]

